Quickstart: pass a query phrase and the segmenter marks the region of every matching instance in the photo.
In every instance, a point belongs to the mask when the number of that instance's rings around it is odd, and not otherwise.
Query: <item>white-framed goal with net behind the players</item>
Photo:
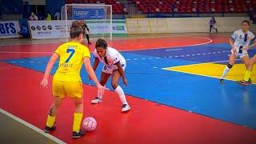
[[[112,39],[112,6],[102,4],[66,4],[62,6],[62,33],[64,41],[70,39],[70,26],[83,20],[89,28],[90,38]]]

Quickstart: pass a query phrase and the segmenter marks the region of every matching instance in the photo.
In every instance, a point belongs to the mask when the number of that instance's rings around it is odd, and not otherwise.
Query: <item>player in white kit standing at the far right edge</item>
[[[224,82],[224,78],[226,74],[230,71],[230,69],[234,66],[237,58],[240,58],[242,62],[246,65],[246,68],[249,66],[250,58],[245,49],[250,45],[250,42],[254,41],[255,36],[252,32],[249,31],[250,22],[243,21],[242,22],[242,30],[237,30],[234,34],[231,35],[230,38],[230,46],[231,46],[231,54],[230,54],[230,62],[223,70],[222,77],[220,78],[220,82]]]

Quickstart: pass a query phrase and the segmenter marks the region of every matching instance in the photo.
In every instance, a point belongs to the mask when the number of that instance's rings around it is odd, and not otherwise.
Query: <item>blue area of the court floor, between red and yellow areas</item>
[[[256,50],[249,53],[252,56]],[[126,94],[256,129],[255,85],[239,86],[228,80],[220,84],[218,78],[162,69],[205,62],[225,65],[230,54],[229,44],[135,50],[122,54],[127,61],[129,86],[121,84]],[[44,72],[48,60],[49,57],[41,57],[9,59],[5,62]],[[55,64],[54,71],[57,66]],[[82,82],[92,85],[93,82],[87,80],[87,74],[82,69]],[[99,66],[98,76],[101,69],[102,66]],[[110,83],[107,87],[110,88]]]

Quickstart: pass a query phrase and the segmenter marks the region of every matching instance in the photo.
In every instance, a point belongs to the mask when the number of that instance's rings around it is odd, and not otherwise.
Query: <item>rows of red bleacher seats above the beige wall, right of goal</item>
[[[133,2],[144,14],[247,13],[251,9],[256,9],[256,0],[130,0],[130,2]]]

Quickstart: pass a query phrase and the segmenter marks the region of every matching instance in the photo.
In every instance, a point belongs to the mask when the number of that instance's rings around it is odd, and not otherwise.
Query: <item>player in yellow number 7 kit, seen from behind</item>
[[[41,82],[41,86],[43,87],[47,86],[50,71],[54,63],[59,59],[58,70],[54,74],[52,81],[54,103],[50,106],[47,117],[46,127],[44,129],[46,133],[55,129],[54,122],[58,107],[61,106],[63,99],[69,96],[74,101],[75,105],[72,138],[80,138],[84,134],[84,132],[80,130],[83,114],[83,90],[80,70],[83,63],[85,64],[86,71],[90,75],[90,78],[93,79],[98,87],[98,90],[104,93],[105,88],[100,85],[94,70],[90,66],[90,51],[86,46],[81,44],[83,34],[84,30],[82,26],[78,22],[73,22],[70,28],[70,38],[72,40],[59,46],[46,66],[46,72]]]

